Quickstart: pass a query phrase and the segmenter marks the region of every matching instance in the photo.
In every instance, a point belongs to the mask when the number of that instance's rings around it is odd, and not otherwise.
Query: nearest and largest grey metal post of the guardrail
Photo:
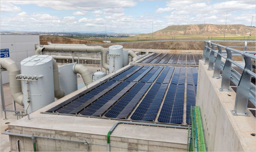
[[[243,57],[245,61],[244,71],[237,85],[235,107],[234,110],[231,110],[231,113],[233,115],[249,116],[247,113],[247,104],[249,99],[250,84],[252,77],[246,71],[252,71],[252,60],[250,57],[245,57],[244,54]]]

